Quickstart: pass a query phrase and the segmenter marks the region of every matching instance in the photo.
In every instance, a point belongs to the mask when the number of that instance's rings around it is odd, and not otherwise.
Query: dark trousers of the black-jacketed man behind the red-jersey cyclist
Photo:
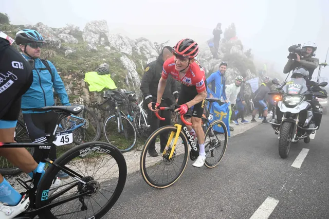
[[[170,107],[170,105],[167,104],[166,100],[161,101],[161,105],[164,107]],[[151,111],[151,109],[148,108],[148,123],[150,124],[150,133],[151,135],[153,132],[155,132],[159,127],[170,125],[171,124],[171,112],[170,111],[158,111],[159,116],[162,118],[166,118],[165,120],[159,120],[155,113]],[[160,145],[161,149],[165,149],[167,141],[168,141],[168,133],[164,133],[160,135]],[[149,149],[155,149],[155,141],[151,142]]]

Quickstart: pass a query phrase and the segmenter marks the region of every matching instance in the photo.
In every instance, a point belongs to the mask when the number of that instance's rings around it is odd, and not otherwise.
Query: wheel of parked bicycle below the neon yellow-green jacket
[[[109,115],[104,122],[103,131],[108,143],[115,145],[121,152],[130,151],[136,144],[136,129],[125,116],[121,115],[120,121],[117,114]]]

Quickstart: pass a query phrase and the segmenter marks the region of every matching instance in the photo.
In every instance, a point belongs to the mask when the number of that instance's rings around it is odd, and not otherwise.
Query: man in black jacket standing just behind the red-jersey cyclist
[[[148,123],[151,125],[150,127],[150,135],[159,127],[170,125],[171,123],[171,112],[169,111],[159,111],[159,115],[162,118],[166,118],[163,121],[160,121],[156,116],[155,113],[151,111],[152,102],[157,101],[157,94],[158,94],[158,84],[159,80],[161,78],[162,69],[163,69],[163,63],[167,59],[173,56],[172,48],[170,46],[163,47],[161,54],[158,56],[157,60],[149,63],[147,67],[145,68],[145,74],[143,75],[140,89],[142,91],[142,94],[144,96],[144,106],[147,105],[148,107]],[[160,106],[170,107],[172,104],[174,104],[171,100],[171,95],[173,94],[176,99],[178,99],[178,91],[177,91],[177,84],[175,80],[171,77],[170,80],[167,81],[165,92],[162,96],[162,101]],[[166,147],[167,143],[167,135],[163,134],[160,135],[160,153],[163,152],[163,150]],[[155,150],[155,141],[152,142],[149,154],[152,157],[158,156],[157,151]]]

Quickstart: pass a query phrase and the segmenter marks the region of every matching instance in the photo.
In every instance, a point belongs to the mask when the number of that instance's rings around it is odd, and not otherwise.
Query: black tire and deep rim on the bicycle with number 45
[[[84,144],[81,144],[77,147],[74,147],[67,152],[65,152],[62,156],[60,156],[54,163],[59,165],[60,167],[64,167],[69,161],[74,159],[75,157],[78,157],[81,155],[81,151],[87,150],[87,149],[93,149],[94,148],[99,148],[103,150],[108,150],[109,153],[118,163],[119,167],[119,177],[118,177],[118,183],[116,186],[116,189],[114,193],[111,196],[111,199],[108,201],[108,203],[97,212],[94,217],[90,218],[101,218],[104,214],[106,214],[117,202],[118,198],[120,197],[125,182],[126,182],[126,177],[127,177],[127,166],[125,159],[122,155],[122,153],[113,145],[106,143],[106,142],[87,142]],[[51,165],[49,169],[46,171],[45,175],[40,181],[40,184],[38,186],[38,189],[36,190],[35,194],[35,207],[36,209],[41,208],[46,205],[46,202],[42,201],[43,197],[43,191],[48,190],[50,188],[50,185],[52,184],[52,181],[54,177],[56,177],[58,173],[58,169],[54,166]],[[65,193],[64,193],[65,194]],[[39,214],[40,218],[45,218],[45,219],[56,219],[57,217],[54,216],[50,209],[45,209]]]

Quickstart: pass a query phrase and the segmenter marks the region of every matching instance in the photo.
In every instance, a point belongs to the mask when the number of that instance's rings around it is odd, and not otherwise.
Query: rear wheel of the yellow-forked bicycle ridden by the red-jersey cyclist
[[[216,133],[213,130],[214,126],[222,126],[224,132]],[[226,151],[227,140],[228,132],[225,123],[221,120],[210,123],[205,134],[206,167],[214,168],[221,162]]]

